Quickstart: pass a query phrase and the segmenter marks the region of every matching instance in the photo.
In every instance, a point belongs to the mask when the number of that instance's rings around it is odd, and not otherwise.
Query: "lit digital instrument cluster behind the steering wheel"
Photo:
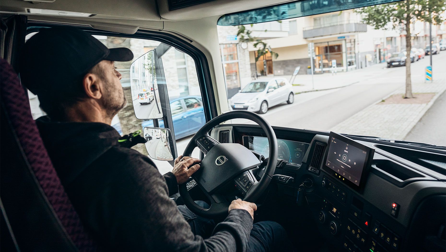
[[[246,148],[269,157],[268,138],[260,136],[244,136],[243,143]],[[288,161],[287,165],[300,167],[306,150],[310,146],[306,143],[277,139],[277,158]]]

